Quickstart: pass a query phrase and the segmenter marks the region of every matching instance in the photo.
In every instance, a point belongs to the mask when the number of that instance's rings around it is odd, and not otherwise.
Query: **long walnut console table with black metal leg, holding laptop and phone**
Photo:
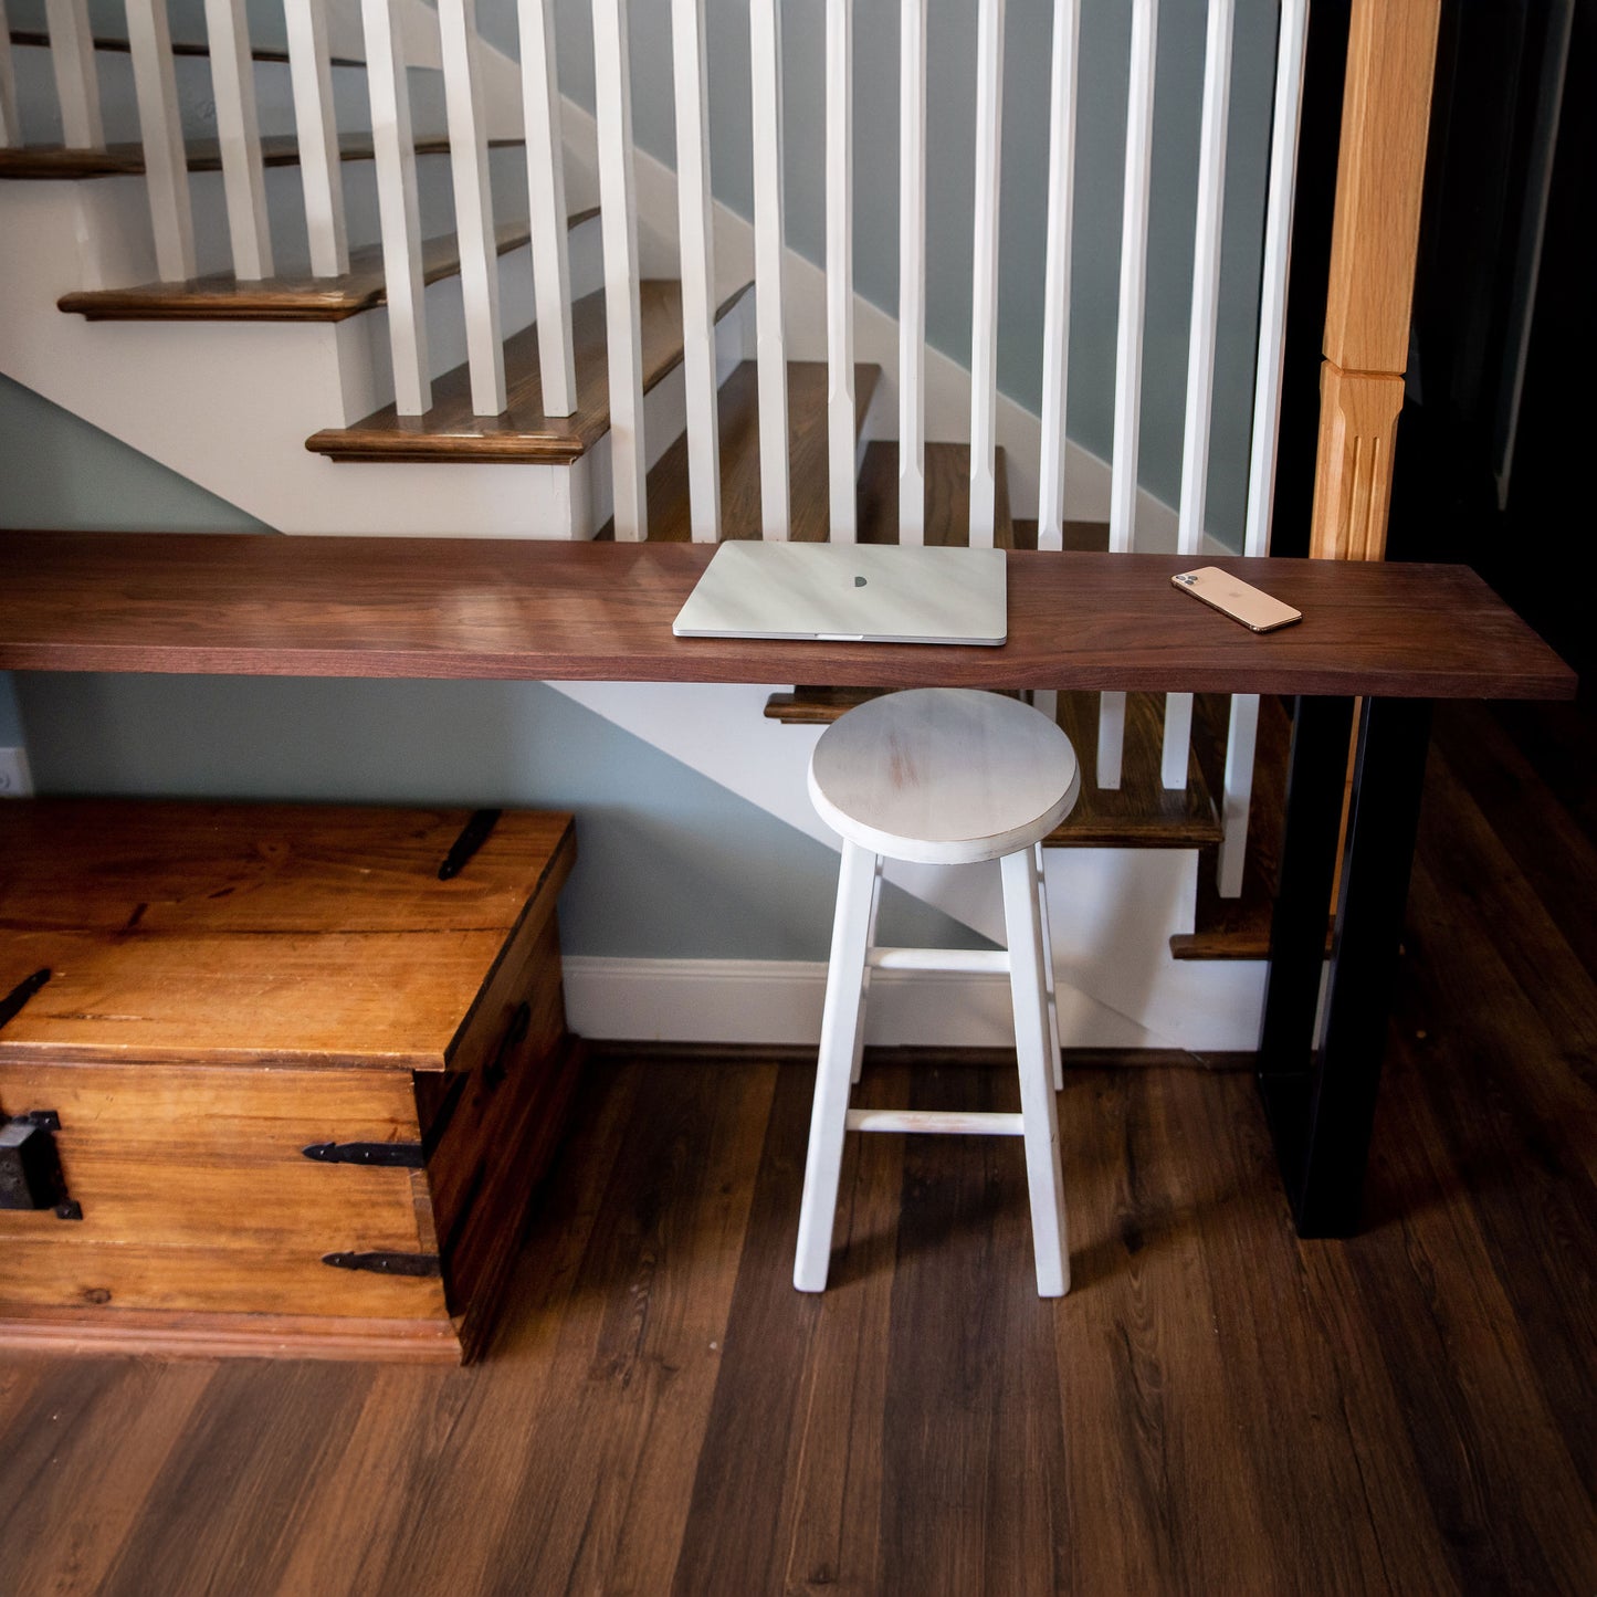
[[[1175,592],[1190,561],[1009,556],[1003,648],[676,639],[712,549],[409,538],[0,533],[0,669],[810,682],[1292,696],[1258,1083],[1303,1236],[1357,1228],[1431,701],[1573,698],[1455,565],[1219,561],[1303,612],[1255,637]],[[1356,704],[1353,806],[1322,1012]]]

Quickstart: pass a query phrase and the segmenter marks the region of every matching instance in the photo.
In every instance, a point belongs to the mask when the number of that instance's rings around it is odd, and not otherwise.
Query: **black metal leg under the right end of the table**
[[[1349,701],[1294,711],[1258,1088],[1300,1236],[1359,1225],[1429,744],[1428,699],[1365,699],[1314,1046]]]

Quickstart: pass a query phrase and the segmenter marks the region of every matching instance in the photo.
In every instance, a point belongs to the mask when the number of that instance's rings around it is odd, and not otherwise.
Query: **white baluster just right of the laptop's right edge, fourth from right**
[[[1080,0],[1054,6],[1054,69],[1048,120],[1048,254],[1043,267],[1043,449],[1036,546],[1065,545],[1065,407],[1070,377],[1070,224],[1076,192],[1076,59]]]

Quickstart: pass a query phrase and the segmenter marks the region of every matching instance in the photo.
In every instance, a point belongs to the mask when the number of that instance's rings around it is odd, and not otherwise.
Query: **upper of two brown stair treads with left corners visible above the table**
[[[577,211],[567,227],[599,214]],[[527,222],[495,228],[495,249],[508,256],[532,240]],[[454,233],[422,243],[422,276],[426,283],[460,271],[460,244]],[[305,273],[240,281],[217,271],[185,283],[141,283],[126,289],[85,289],[62,294],[56,305],[89,321],[343,321],[388,300],[382,244],[350,251],[350,270],[337,278]]]

